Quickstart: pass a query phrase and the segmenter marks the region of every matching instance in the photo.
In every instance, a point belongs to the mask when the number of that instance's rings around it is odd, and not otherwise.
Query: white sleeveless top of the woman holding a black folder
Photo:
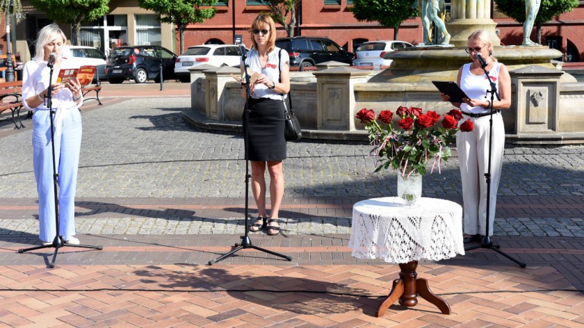
[[[499,69],[501,69],[501,63],[495,62],[493,67],[489,71],[489,76],[495,82],[498,92],[498,74]],[[464,93],[467,94],[471,99],[479,99],[479,100],[490,100],[491,94],[487,93],[487,90],[491,90],[491,84],[487,81],[487,75],[474,75],[471,73],[471,63],[464,64],[462,66],[462,75],[460,76],[460,88]],[[487,96],[487,98],[485,98]],[[460,109],[463,112],[473,113],[473,114],[481,114],[486,113],[489,110],[482,107],[476,106],[471,107],[467,103],[460,104]]]

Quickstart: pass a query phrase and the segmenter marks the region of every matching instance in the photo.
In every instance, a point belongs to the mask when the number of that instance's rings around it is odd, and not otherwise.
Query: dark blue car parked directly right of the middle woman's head
[[[351,64],[353,54],[339,47],[339,44],[327,38],[297,36],[295,38],[278,38],[276,47],[288,51],[290,66],[314,66],[330,60]]]

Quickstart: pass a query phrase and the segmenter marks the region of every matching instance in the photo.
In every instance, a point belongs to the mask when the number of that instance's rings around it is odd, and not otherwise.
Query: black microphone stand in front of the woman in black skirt
[[[241,236],[241,244],[235,244],[235,249],[232,249],[231,252],[227,253],[227,254],[223,254],[222,256],[219,256],[217,259],[215,260],[211,260],[209,261],[209,265],[213,265],[214,263],[217,263],[219,261],[222,261],[223,259],[227,258],[227,256],[230,256],[232,254],[234,254],[235,252],[238,252],[240,249],[249,249],[249,248],[253,248],[253,249],[257,249],[261,252],[265,252],[268,254],[272,254],[275,256],[279,256],[282,257],[288,261],[292,261],[292,256],[287,256],[284,254],[279,254],[276,252],[272,252],[268,249],[264,249],[261,247],[257,247],[252,245],[252,240],[250,239],[249,236],[249,232],[248,232],[248,211],[249,211],[249,195],[250,195],[250,159],[249,159],[249,148],[250,148],[250,142],[249,142],[249,136],[250,136],[250,126],[249,126],[249,122],[250,122],[250,97],[251,97],[251,91],[250,91],[250,74],[248,74],[248,64],[245,63],[245,51],[242,51],[242,55],[241,58],[243,59],[243,72],[245,74],[245,95],[247,95],[247,99],[245,99],[245,113],[243,115],[243,140],[244,140],[244,144],[245,144],[245,234],[244,236]]]

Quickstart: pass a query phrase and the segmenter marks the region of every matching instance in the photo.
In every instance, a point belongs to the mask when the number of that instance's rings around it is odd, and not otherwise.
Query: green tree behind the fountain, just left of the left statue
[[[418,15],[417,1],[413,0],[354,0],[351,8],[359,22],[379,22],[381,26],[394,28],[394,40],[398,40],[400,24]]]

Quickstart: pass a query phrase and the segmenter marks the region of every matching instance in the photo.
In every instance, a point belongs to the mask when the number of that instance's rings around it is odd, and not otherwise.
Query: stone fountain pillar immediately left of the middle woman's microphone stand
[[[232,74],[239,76],[241,71],[235,67],[223,66],[216,69],[207,69],[205,73],[205,115],[208,119],[225,120],[223,110],[227,97],[224,95],[225,83],[235,81]]]

